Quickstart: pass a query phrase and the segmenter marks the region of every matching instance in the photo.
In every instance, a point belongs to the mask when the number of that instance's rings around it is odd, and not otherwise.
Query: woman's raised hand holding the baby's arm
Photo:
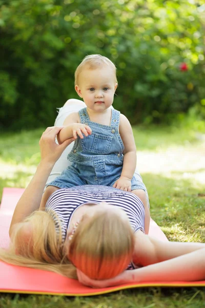
[[[55,137],[62,128],[64,128],[64,126],[52,126],[48,127],[43,132],[39,141],[39,146],[40,156],[44,163],[54,164],[66,149],[66,147],[75,140],[75,138],[70,138],[60,145],[57,144],[55,142]]]

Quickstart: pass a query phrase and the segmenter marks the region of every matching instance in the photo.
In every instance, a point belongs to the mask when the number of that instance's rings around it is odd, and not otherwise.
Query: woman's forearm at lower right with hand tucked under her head
[[[197,281],[205,279],[205,248],[157,264],[125,271],[108,280],[91,280],[77,271],[78,280],[92,287],[137,282]]]

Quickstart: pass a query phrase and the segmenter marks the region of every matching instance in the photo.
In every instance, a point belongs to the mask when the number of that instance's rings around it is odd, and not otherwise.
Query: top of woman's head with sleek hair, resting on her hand
[[[91,206],[70,240],[69,259],[90,278],[109,279],[126,269],[133,249],[134,235],[126,213],[111,205]]]

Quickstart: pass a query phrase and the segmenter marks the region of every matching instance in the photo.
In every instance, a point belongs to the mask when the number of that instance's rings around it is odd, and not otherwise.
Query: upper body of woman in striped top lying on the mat
[[[40,208],[50,172],[74,140],[56,144],[61,128],[49,127],[42,134],[40,163],[16,205],[11,245],[1,249],[0,259],[93,287],[203,280],[205,244],[161,242],[145,235],[145,209],[131,192],[95,185],[63,188]]]

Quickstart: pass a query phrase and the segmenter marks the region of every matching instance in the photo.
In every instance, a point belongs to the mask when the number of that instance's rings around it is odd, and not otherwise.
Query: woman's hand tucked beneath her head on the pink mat
[[[130,281],[130,272],[132,271],[124,271],[118,276],[111,278],[111,279],[93,280],[89,278],[88,276],[86,276],[81,271],[79,271],[79,269],[77,269],[77,278],[79,282],[82,284],[85,284],[87,286],[91,286],[94,288],[102,288],[102,287],[108,287],[108,286],[128,283]]]

